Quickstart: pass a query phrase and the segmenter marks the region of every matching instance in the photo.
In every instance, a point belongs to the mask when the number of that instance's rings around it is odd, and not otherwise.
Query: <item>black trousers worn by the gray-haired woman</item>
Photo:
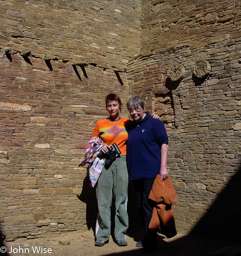
[[[152,218],[153,206],[149,203],[148,197],[150,195],[154,180],[155,178],[132,180],[134,185],[138,210],[140,212],[141,219],[145,226],[146,238],[148,237],[153,238],[153,236],[154,237],[157,236],[156,231],[151,231],[149,229],[149,223]]]

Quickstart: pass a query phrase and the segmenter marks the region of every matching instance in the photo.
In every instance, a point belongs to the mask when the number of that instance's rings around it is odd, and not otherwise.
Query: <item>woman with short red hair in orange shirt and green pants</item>
[[[114,235],[118,246],[126,246],[126,232],[128,228],[128,173],[126,167],[128,134],[126,127],[132,121],[126,117],[120,117],[122,103],[118,95],[108,94],[105,101],[109,117],[96,123],[91,138],[98,136],[105,143],[101,148],[103,153],[107,153],[110,145],[116,143],[120,148],[121,154],[112,162],[109,168],[104,164],[95,186],[98,200],[95,246],[104,246],[109,241],[112,190],[116,208]]]

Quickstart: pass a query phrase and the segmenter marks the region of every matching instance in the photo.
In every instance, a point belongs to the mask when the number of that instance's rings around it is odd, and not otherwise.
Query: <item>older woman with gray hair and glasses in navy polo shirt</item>
[[[168,137],[163,122],[145,112],[141,97],[131,97],[127,108],[134,120],[128,126],[127,169],[146,232],[136,247],[144,247],[145,252],[151,252],[157,249],[157,232],[149,229],[153,206],[149,204],[148,197],[157,174],[160,173],[162,179],[168,177]]]

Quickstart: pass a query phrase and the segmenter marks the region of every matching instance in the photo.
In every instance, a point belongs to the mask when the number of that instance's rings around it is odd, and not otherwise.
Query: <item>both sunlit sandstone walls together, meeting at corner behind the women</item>
[[[239,27],[240,1],[1,1],[6,240],[94,225],[95,195],[78,164],[109,92],[124,105],[141,95],[161,116],[177,228],[190,231],[241,164]],[[199,60],[208,77],[193,75]],[[167,78],[175,63],[185,68],[178,82]]]

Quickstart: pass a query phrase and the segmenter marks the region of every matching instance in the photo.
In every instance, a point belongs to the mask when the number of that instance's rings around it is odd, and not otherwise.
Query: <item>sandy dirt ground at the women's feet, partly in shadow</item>
[[[195,256],[211,256],[219,249],[226,247],[227,251],[233,251],[237,247],[237,242],[215,240],[215,238],[205,238],[198,236],[190,236],[177,234],[174,238],[167,239],[158,235],[159,248],[156,252],[143,254],[143,248],[135,247],[136,237],[128,236],[128,246],[118,247],[110,238],[108,244],[104,247],[94,246],[94,234],[89,231],[72,231],[62,233],[59,236],[51,236],[45,238],[26,239],[19,238],[11,242],[3,242],[1,251],[6,248],[9,256],[19,255],[52,255],[52,256],[90,256],[90,255],[162,255],[162,256],[178,256],[178,255],[195,255]],[[68,243],[66,245],[62,243]],[[227,247],[229,246],[229,247]],[[236,247],[234,247],[236,246]],[[46,249],[45,249],[46,248]],[[39,250],[39,252],[37,252]],[[241,250],[239,251],[241,252]],[[1,254],[3,255],[3,254]],[[238,254],[217,254],[217,255],[238,255]]]

